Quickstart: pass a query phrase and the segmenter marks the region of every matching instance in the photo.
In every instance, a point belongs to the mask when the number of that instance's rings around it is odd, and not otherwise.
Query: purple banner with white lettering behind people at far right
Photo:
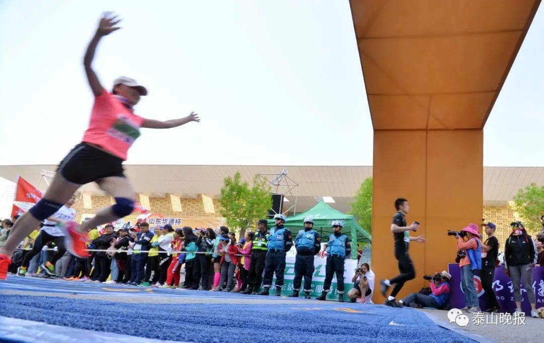
[[[450,263],[448,265],[448,272],[452,275],[450,284],[452,285],[452,295],[449,298],[449,304],[452,308],[465,307],[465,295],[461,290],[461,269],[458,264]],[[487,309],[485,302],[484,289],[481,286],[481,279],[478,275],[474,276],[474,286],[478,294],[478,301],[481,309]],[[544,267],[533,268],[533,289],[536,296],[536,308],[544,307]],[[503,271],[503,266],[499,266],[495,269],[495,276],[493,278],[493,291],[499,303],[501,311],[512,313],[516,309],[516,303],[514,302],[514,286],[512,280],[506,276]],[[527,298],[527,291],[523,288],[523,282],[521,284],[521,309],[527,316],[530,316],[531,307]]]

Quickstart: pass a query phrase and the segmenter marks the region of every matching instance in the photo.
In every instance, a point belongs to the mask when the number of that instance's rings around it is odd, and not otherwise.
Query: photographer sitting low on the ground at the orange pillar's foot
[[[412,293],[399,301],[399,303],[413,308],[432,307],[438,310],[443,309],[449,302],[449,293],[451,290],[449,279],[452,276],[444,270],[441,273],[435,273],[433,276],[424,275],[423,278],[429,280],[432,294]]]

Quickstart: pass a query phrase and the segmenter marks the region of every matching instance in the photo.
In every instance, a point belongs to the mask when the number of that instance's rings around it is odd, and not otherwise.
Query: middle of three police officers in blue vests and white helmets
[[[304,219],[304,230],[300,230],[295,237],[295,278],[293,279],[293,294],[288,297],[298,297],[302,276],[304,276],[304,291],[306,299],[310,299],[312,291],[312,276],[315,267],[313,257],[321,250],[321,239],[316,230],[313,229],[312,217]]]

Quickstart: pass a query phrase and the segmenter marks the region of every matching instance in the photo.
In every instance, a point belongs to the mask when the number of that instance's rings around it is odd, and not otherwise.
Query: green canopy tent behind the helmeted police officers
[[[293,238],[300,229],[304,228],[304,219],[309,216],[313,218],[313,228],[319,232],[322,241],[325,241],[332,234],[331,223],[333,220],[341,220],[344,223],[342,232],[350,236],[352,242],[370,243],[372,241],[372,236],[357,223],[353,215],[337,211],[323,200],[306,212],[287,217],[285,226],[293,233]],[[273,219],[268,220],[268,226],[274,226]],[[357,249],[353,249],[351,255],[356,259]]]

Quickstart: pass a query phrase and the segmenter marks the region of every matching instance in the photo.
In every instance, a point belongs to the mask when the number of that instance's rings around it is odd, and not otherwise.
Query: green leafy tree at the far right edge
[[[514,210],[529,232],[539,230],[542,226],[540,217],[544,214],[544,186],[531,183],[518,190],[514,196]]]

